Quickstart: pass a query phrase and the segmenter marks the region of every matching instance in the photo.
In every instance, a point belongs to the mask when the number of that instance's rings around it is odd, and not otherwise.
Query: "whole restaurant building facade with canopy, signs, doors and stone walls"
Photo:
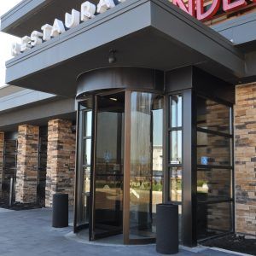
[[[0,89],[2,196],[52,207],[74,232],[155,241],[156,205],[179,240],[256,236],[253,1],[21,1]]]

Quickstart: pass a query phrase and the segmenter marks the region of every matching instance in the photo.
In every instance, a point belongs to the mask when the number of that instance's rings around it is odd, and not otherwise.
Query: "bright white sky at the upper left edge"
[[[13,8],[21,0],[2,0],[0,4],[0,16]],[[11,45],[13,42],[20,42],[20,38],[15,38],[3,32],[0,32],[0,87],[5,85],[5,61],[12,58]]]

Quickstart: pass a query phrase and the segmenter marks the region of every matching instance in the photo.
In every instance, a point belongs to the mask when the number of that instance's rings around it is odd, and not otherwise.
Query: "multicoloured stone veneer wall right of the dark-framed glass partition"
[[[256,84],[236,86],[236,232],[256,235]]]

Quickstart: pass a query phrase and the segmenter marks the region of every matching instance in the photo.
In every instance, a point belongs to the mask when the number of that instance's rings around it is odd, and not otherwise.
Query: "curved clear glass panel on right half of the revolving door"
[[[162,201],[163,97],[131,93],[130,238],[154,237]]]

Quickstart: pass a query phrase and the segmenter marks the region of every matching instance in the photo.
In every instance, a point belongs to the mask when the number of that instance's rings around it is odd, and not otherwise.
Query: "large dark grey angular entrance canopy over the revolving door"
[[[114,64],[108,63],[111,49]],[[196,66],[237,83],[244,76],[243,58],[230,41],[172,3],[129,0],[7,61],[6,83],[75,96],[79,74],[113,66]]]

